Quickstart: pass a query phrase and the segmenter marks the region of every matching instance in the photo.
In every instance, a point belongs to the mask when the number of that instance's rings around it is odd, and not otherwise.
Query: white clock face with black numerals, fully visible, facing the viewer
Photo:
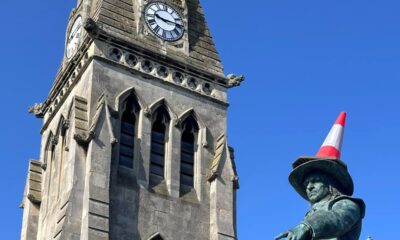
[[[166,41],[179,40],[185,31],[182,17],[165,3],[150,3],[145,10],[145,19],[151,31]]]

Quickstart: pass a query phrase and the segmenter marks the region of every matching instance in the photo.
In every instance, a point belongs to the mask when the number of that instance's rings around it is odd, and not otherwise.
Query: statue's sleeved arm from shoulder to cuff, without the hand
[[[306,216],[304,223],[313,232],[313,238],[334,238],[348,232],[361,219],[357,203],[342,199],[333,204],[330,210],[319,210]]]

